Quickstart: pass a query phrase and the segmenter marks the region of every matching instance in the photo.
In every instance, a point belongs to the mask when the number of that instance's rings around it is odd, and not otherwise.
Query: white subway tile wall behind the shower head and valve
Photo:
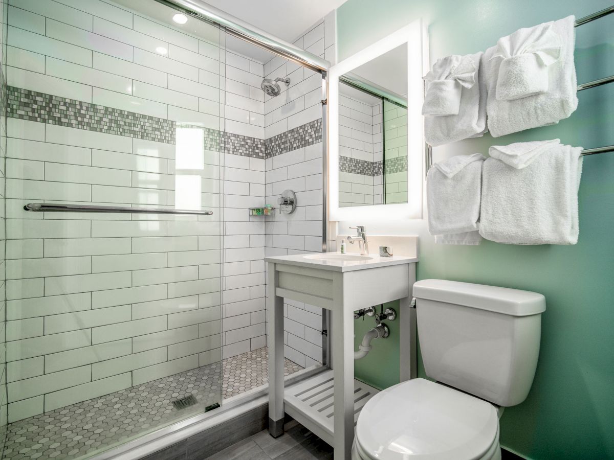
[[[334,64],[335,12],[309,28],[294,44]],[[265,252],[267,256],[321,252],[321,138],[281,150],[277,139],[288,134],[292,137],[297,126],[322,118],[322,77],[280,57],[265,63],[264,74],[269,79],[290,78],[289,86],[280,84],[279,96],[265,96],[265,136],[267,151],[271,150],[265,160],[265,201],[274,204],[286,189],[297,194],[295,212],[266,217]],[[322,363],[322,309],[287,301],[284,316],[286,358],[303,367]]]

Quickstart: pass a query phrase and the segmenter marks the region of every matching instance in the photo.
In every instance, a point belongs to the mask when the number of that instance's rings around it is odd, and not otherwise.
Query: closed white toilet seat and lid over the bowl
[[[355,452],[372,460],[495,458],[499,418],[492,404],[423,378],[373,396],[356,424]]]

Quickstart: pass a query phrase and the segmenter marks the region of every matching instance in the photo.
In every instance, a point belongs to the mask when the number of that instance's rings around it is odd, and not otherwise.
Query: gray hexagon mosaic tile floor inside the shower
[[[302,369],[287,359],[285,364],[286,375]],[[267,381],[266,348],[260,348],[224,359],[222,366],[210,364],[11,423],[2,459],[90,456],[201,413],[219,402],[220,394],[227,399]]]

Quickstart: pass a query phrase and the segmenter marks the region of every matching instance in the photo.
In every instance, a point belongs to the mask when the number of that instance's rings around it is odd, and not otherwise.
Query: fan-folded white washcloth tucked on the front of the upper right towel
[[[548,66],[558,61],[561,37],[552,23],[518,29],[497,42],[491,59],[501,59],[495,97],[513,101],[548,91]]]

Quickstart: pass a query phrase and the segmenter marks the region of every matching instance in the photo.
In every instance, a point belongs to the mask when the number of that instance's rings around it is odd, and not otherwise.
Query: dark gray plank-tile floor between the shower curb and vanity
[[[231,445],[208,460],[328,460],[333,458],[333,448],[304,426],[294,422],[278,439],[264,430],[243,441]]]

